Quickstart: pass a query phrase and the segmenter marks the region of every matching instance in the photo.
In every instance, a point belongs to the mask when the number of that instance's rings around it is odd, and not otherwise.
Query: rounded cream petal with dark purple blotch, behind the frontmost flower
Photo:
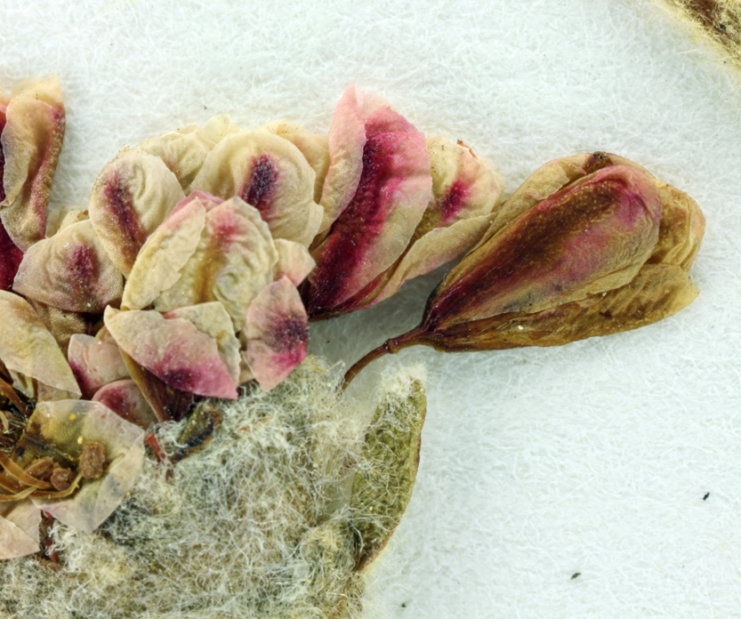
[[[314,202],[316,173],[290,141],[264,130],[232,133],[206,157],[193,189],[241,197],[267,221],[273,237],[309,245],[322,208]]]

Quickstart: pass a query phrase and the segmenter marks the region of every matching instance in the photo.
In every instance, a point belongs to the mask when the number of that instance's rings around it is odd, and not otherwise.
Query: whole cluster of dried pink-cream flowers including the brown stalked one
[[[157,448],[154,424],[248,381],[272,390],[306,356],[310,319],[371,307],[463,254],[422,325],[348,380],[415,343],[556,345],[697,294],[703,216],[640,166],[560,159],[502,203],[471,149],[352,86],[328,136],[214,117],[122,150],[86,210],[47,221],[63,128],[55,80],[0,95],[2,558],[39,550],[42,516],[99,527],[145,442]]]

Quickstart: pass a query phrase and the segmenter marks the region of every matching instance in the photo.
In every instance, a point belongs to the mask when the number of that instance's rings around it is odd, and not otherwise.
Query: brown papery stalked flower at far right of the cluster
[[[690,197],[623,157],[552,161],[431,294],[422,323],[360,359],[345,382],[415,344],[558,346],[656,322],[697,296],[687,271],[704,229]]]

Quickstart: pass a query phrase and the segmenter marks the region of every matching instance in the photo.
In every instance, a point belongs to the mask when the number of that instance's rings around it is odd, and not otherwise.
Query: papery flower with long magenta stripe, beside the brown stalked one
[[[342,96],[329,134],[325,209],[302,289],[313,319],[375,305],[479,241],[502,181],[462,144],[422,133],[377,95]]]

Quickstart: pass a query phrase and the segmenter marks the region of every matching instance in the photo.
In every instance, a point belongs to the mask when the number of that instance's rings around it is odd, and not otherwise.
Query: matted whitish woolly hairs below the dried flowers
[[[210,401],[222,417],[213,438],[174,466],[150,454],[129,497],[98,531],[55,522],[59,566],[0,562],[0,615],[362,616],[355,523],[367,526],[376,516],[373,504],[351,504],[352,478],[375,468],[377,451],[363,449],[368,424],[393,425],[420,380],[416,371],[385,379],[385,418],[373,422],[369,409],[342,397],[335,373],[317,358],[270,393],[247,389],[233,402]],[[181,425],[160,429],[170,453]],[[387,494],[397,482],[393,473],[375,479],[380,501],[394,501]],[[377,527],[385,526],[388,519],[379,518]]]

